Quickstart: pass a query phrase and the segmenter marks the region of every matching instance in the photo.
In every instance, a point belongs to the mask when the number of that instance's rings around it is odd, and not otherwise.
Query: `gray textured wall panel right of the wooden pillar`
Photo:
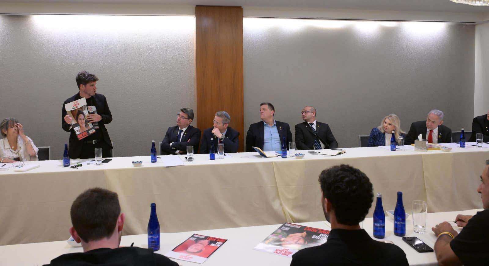
[[[453,131],[471,128],[474,25],[245,18],[243,27],[246,130],[263,101],[292,134],[315,106],[339,147],[358,147],[387,114],[405,131],[431,109]]]

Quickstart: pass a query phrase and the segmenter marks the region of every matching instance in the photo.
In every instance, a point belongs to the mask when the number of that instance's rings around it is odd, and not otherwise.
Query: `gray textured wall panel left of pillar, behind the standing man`
[[[2,15],[0,117],[61,158],[61,108],[87,70],[112,112],[115,155],[148,155],[179,109],[195,108],[194,36],[193,17]]]

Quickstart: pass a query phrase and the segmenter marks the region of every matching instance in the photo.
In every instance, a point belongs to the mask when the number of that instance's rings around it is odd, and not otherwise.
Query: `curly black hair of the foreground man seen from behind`
[[[374,201],[367,175],[349,165],[337,165],[321,172],[319,183],[331,203],[338,223],[354,226],[365,219]]]

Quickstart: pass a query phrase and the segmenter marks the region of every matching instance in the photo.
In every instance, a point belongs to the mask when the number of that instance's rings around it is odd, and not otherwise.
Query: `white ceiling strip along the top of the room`
[[[158,3],[416,12],[489,12],[489,6],[471,6],[467,4],[454,3],[450,0],[0,0],[0,2],[109,4]]]

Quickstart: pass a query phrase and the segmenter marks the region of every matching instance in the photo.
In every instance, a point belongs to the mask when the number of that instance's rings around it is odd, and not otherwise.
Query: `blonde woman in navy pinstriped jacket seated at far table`
[[[368,147],[374,146],[389,146],[391,145],[392,132],[396,138],[396,143],[399,137],[404,137],[404,131],[400,129],[400,119],[395,114],[389,114],[382,119],[380,126],[373,128],[368,137]]]

